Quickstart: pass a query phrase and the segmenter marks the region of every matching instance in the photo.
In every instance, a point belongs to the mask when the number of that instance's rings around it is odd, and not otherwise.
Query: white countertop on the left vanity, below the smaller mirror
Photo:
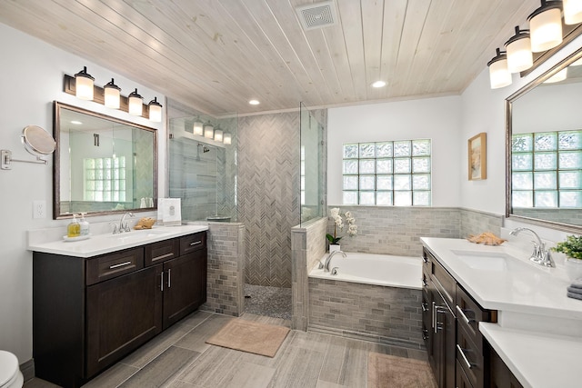
[[[122,249],[156,243],[158,241],[208,230],[207,224],[158,226],[153,229],[125,232],[123,234],[97,234],[87,240],[35,242],[29,237],[28,250],[46,254],[64,254],[75,257],[93,257]]]

